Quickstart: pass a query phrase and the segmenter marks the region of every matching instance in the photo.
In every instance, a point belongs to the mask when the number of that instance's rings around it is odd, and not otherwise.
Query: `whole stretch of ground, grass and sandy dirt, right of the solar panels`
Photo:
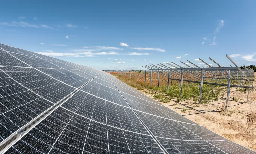
[[[228,101],[227,111],[224,111],[226,103],[227,88],[215,86],[212,93],[212,85],[203,84],[202,104],[199,102],[199,85],[196,83],[183,82],[182,98],[180,98],[181,84],[178,81],[169,81],[169,92],[167,93],[167,80],[160,75],[160,85],[157,87],[158,80],[155,74],[150,79],[144,78],[144,72],[140,73],[138,81],[138,72],[133,72],[128,76],[121,76],[118,73],[112,73],[121,81],[134,87],[143,94],[155,99],[164,106],[174,110],[184,117],[224,136],[225,138],[256,150],[256,95],[255,91],[250,89],[249,101],[247,92],[242,88],[232,88]],[[256,75],[256,74],[255,74]],[[254,81],[254,86],[255,81]]]

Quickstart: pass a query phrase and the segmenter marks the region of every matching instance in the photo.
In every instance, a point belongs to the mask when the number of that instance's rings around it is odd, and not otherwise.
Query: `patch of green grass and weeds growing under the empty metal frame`
[[[158,99],[162,102],[169,102],[165,96],[168,96],[168,98],[176,98],[178,101],[181,100],[190,100],[192,99],[194,103],[199,102],[199,97],[200,97],[200,91],[199,91],[199,84],[198,83],[189,83],[189,87],[187,87],[187,82],[183,83],[182,87],[182,98],[181,96],[181,83],[180,85],[178,84],[178,81],[173,80],[173,84],[169,82],[169,91],[167,92],[167,81],[160,82],[159,87],[157,86],[157,80],[152,80],[152,85],[150,85],[150,80],[146,80],[147,82],[144,82],[144,78],[141,79],[140,81],[133,80],[133,76],[130,78],[130,76],[121,76],[117,75],[117,78],[120,79],[121,81],[125,82],[126,84],[130,85],[131,87],[134,87],[138,90],[143,90],[143,89],[149,89],[152,91],[157,91],[159,94],[154,95],[154,99]],[[162,79],[160,78],[160,81]],[[223,83],[227,82],[226,80],[222,80]],[[209,101],[212,100],[218,100],[218,97],[223,96],[226,87],[221,87],[221,86],[214,86],[214,92],[212,93],[212,85],[208,84],[203,84],[203,89],[202,89],[202,101],[201,103],[209,103]]]

